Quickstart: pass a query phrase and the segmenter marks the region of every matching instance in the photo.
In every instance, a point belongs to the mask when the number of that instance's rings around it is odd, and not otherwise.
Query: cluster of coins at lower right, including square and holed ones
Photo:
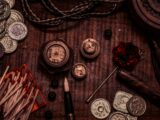
[[[107,120],[137,120],[146,111],[146,102],[143,98],[123,91],[118,91],[113,101],[115,112],[111,112],[107,100],[99,98],[92,102],[91,113],[97,119]]]

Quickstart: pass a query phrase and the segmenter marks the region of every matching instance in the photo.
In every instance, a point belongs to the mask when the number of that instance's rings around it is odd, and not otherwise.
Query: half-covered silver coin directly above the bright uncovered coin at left
[[[12,9],[11,15],[7,20],[7,27],[14,22],[24,22],[24,17],[19,11]]]

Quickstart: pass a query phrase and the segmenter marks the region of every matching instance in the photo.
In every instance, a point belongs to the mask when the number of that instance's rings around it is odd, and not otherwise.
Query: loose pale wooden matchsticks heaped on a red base
[[[9,71],[9,66],[0,78],[0,106],[4,120],[28,120],[40,92],[26,65]]]

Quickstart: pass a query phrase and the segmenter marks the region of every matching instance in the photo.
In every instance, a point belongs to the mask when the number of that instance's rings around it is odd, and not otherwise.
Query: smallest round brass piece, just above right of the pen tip
[[[83,63],[77,63],[72,68],[72,75],[76,79],[83,79],[87,76],[87,66]]]

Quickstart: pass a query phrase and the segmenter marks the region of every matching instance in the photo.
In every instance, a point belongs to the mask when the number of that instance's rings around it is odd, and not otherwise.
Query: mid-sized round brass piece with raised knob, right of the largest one
[[[100,45],[93,38],[88,38],[82,42],[81,54],[88,59],[93,59],[100,54]]]

